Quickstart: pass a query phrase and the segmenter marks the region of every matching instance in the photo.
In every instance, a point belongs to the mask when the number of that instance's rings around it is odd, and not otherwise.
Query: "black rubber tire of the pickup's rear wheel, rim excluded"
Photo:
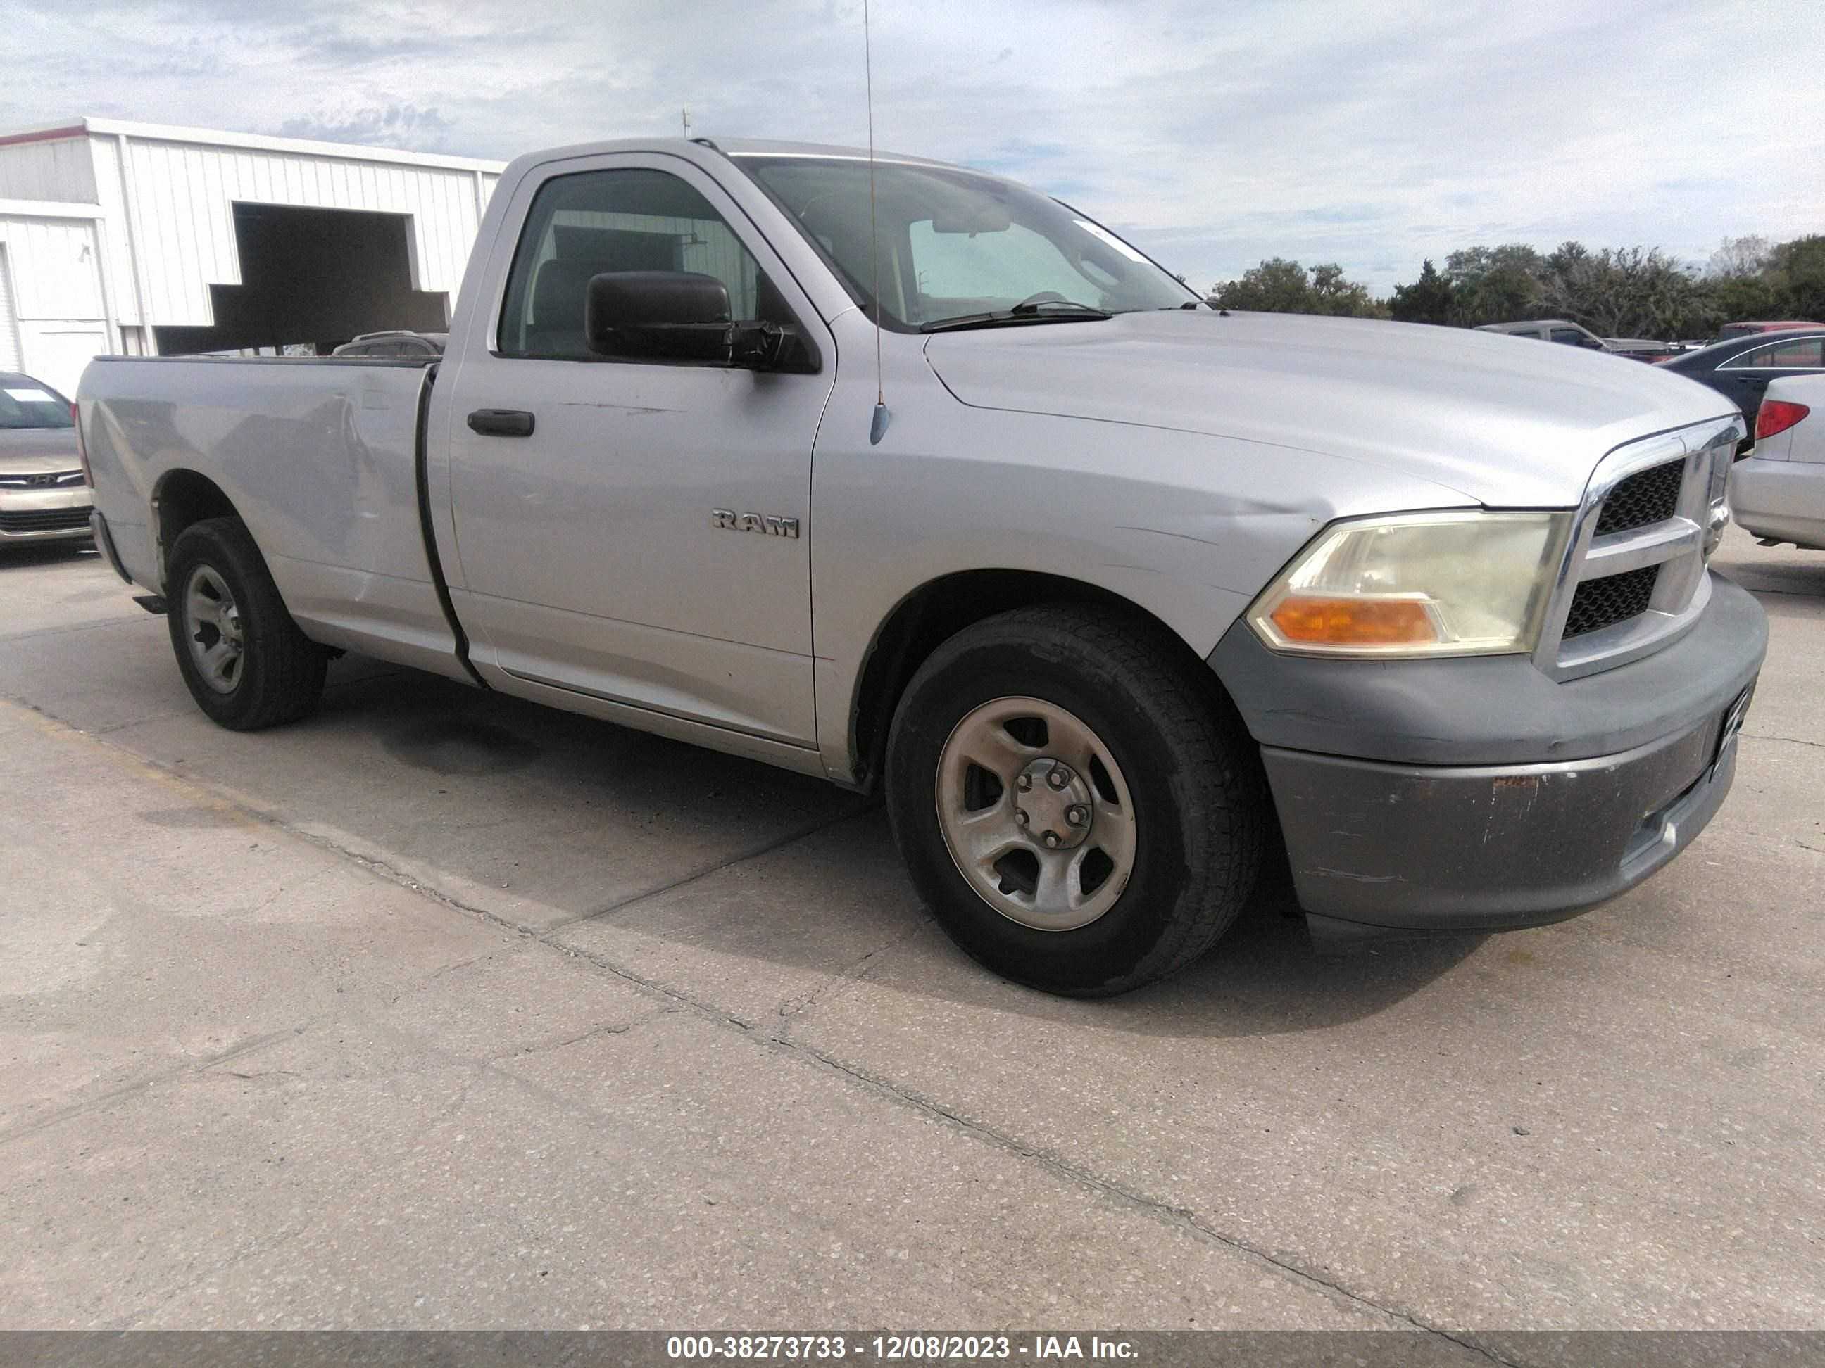
[[[208,682],[190,646],[206,631],[190,615],[190,587],[208,573],[228,587],[239,613],[241,653],[226,691]],[[316,710],[328,651],[292,622],[239,518],[206,518],[179,534],[166,562],[164,602],[177,669],[210,720],[232,731],[259,731]]]

